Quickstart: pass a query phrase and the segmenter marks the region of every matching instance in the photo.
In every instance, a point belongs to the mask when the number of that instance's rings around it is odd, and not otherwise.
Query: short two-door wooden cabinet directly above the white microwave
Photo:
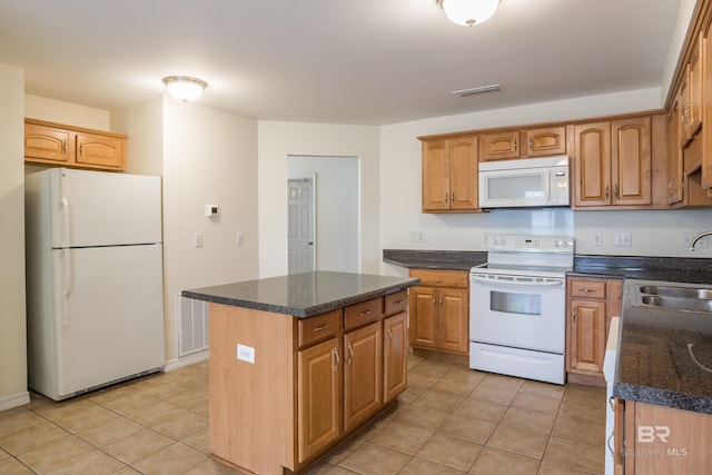
[[[479,136],[479,161],[566,154],[566,126],[503,130]]]

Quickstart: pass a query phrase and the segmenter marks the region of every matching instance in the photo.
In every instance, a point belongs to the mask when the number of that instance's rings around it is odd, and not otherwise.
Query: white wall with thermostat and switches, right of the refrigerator
[[[181,290],[258,277],[257,122],[168,97],[162,110],[170,362],[177,356],[175,301]],[[286,189],[286,178],[281,185]],[[208,204],[219,205],[219,217],[205,217]],[[237,231],[245,232],[244,246],[237,246]],[[194,247],[195,232],[202,232],[204,247]]]

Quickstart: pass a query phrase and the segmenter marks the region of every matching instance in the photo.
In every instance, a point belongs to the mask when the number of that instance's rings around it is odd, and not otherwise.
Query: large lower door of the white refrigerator
[[[161,245],[52,251],[62,284],[55,290],[57,389],[48,396],[165,365],[161,263]]]

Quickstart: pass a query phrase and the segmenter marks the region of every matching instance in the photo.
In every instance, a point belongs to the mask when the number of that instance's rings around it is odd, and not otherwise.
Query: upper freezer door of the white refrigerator
[[[161,241],[160,177],[53,168],[52,248]]]

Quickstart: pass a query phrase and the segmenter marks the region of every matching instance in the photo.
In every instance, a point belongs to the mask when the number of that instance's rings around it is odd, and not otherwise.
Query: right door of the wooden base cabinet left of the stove
[[[439,290],[439,295],[437,345],[448,352],[467,353],[468,293],[463,289],[444,288]]]

